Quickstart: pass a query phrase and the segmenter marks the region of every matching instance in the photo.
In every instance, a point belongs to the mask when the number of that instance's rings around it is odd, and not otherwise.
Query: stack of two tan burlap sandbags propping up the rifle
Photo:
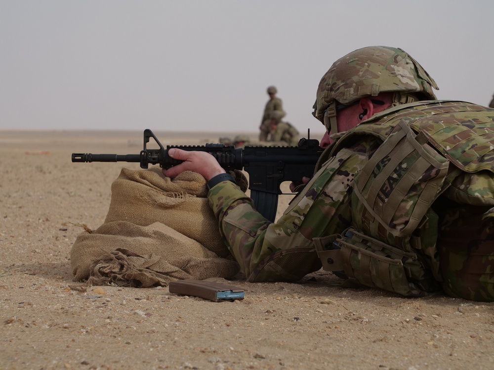
[[[74,280],[148,287],[233,277],[239,266],[221,240],[206,196],[206,181],[193,172],[170,180],[160,168],[122,169],[105,223],[82,232],[72,247]]]

